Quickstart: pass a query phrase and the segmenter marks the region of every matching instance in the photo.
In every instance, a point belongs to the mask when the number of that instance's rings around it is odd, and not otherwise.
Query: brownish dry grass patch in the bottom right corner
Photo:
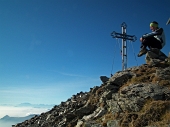
[[[170,101],[147,100],[138,113],[126,113],[120,121],[120,127],[143,127],[156,125],[164,127],[170,122]],[[159,126],[158,126],[159,125]]]

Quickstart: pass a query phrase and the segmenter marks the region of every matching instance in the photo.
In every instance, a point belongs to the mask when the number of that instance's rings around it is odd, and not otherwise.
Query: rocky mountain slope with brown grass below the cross
[[[170,127],[168,59],[100,79],[100,86],[13,127]]]

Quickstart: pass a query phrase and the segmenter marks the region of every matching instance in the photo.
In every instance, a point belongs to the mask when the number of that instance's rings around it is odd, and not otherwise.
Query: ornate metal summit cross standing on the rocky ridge
[[[121,38],[122,39],[122,71],[127,69],[127,40],[131,40],[133,42],[136,41],[136,36],[135,35],[127,35],[126,34],[126,23],[123,22],[121,24],[122,27],[122,33],[116,33],[113,31],[111,33],[111,36],[113,38]]]

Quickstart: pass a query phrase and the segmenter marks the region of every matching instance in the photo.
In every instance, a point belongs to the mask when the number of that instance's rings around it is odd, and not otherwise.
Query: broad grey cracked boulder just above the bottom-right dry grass
[[[131,84],[113,94],[111,100],[107,100],[109,110],[116,112],[138,112],[147,99],[170,100],[170,89],[158,84]]]

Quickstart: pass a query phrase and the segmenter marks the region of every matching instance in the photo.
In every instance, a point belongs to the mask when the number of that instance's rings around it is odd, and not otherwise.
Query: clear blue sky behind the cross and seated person
[[[112,31],[128,44],[128,67],[145,63],[139,38],[155,20],[170,49],[170,0],[0,0],[0,104],[59,104],[122,69]],[[133,52],[134,49],[134,52]],[[114,61],[113,61],[114,60]]]

